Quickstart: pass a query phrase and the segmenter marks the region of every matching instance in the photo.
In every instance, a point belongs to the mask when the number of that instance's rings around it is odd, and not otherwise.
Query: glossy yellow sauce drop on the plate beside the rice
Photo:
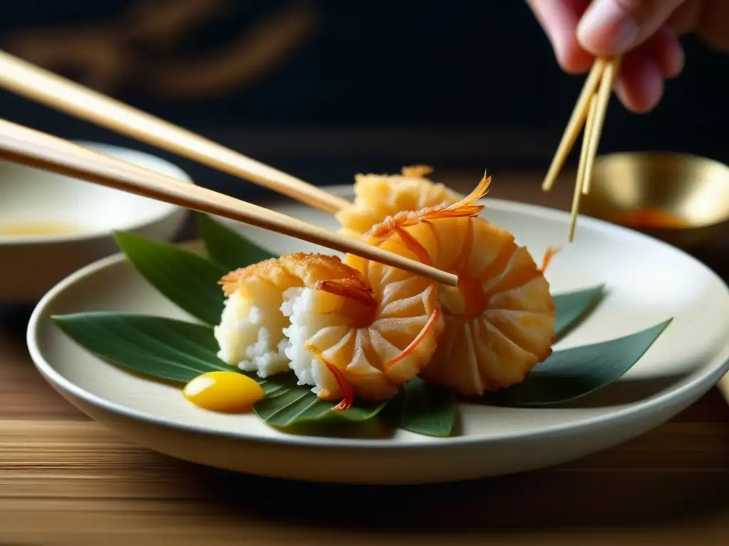
[[[211,371],[185,385],[182,395],[199,408],[233,414],[262,400],[265,392],[254,379],[235,371]]]

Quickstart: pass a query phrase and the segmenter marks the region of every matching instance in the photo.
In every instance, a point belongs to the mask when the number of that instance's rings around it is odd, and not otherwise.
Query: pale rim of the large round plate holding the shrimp
[[[341,191],[342,188],[347,186],[330,186],[330,189],[335,191]],[[507,212],[515,213],[527,213],[537,217],[559,221],[565,225],[569,224],[569,213],[563,210],[558,210],[542,205],[532,205],[531,203],[524,203],[518,201],[512,201],[507,199],[480,199],[480,202],[484,202],[487,205],[494,205],[494,208],[504,210]],[[617,226],[616,224],[602,221],[597,218],[590,218],[587,216],[580,216],[579,221],[582,225],[587,225],[593,229],[597,229],[599,232],[617,232],[624,237],[634,237],[639,240],[644,240],[649,244],[659,245],[666,248],[666,250],[679,253],[683,258],[693,261],[693,263],[699,268],[703,269],[706,273],[714,277],[715,280],[720,282],[720,285],[725,289],[726,293],[729,294],[729,285],[719,277],[712,269],[706,264],[694,258],[690,254],[686,253],[680,248],[676,248],[669,245],[666,242],[650,237],[646,234],[636,232],[632,229],[625,228],[623,226]],[[181,245],[190,245],[198,242],[198,240],[182,242]],[[95,395],[93,392],[89,392],[86,389],[79,387],[73,381],[66,379],[60,372],[58,372],[43,356],[43,352],[39,347],[38,331],[42,321],[44,319],[50,320],[50,314],[47,313],[47,307],[50,306],[52,301],[61,296],[63,292],[69,289],[71,286],[81,282],[85,277],[89,277],[92,274],[100,272],[103,269],[110,268],[112,266],[120,266],[125,262],[125,255],[122,252],[113,254],[101,258],[98,261],[94,261],[91,264],[78,269],[76,272],[70,274],[65,279],[58,282],[53,288],[51,288],[36,304],[31,314],[30,320],[28,320],[28,327],[26,329],[26,345],[28,352],[31,355],[36,369],[41,375],[49,381],[53,387],[61,389],[64,392],[68,392],[73,397],[77,397],[83,402],[90,404],[94,407],[101,408],[112,414],[117,414],[125,418],[139,420],[148,424],[154,424],[155,426],[171,428],[182,432],[189,432],[197,435],[212,435],[225,437],[231,440],[245,441],[249,443],[266,443],[276,444],[280,446],[298,446],[308,448],[335,448],[335,449],[375,449],[384,451],[407,451],[412,449],[443,449],[443,448],[469,448],[476,446],[488,446],[498,445],[504,442],[514,442],[520,440],[539,440],[545,437],[551,437],[554,435],[574,434],[579,433],[586,428],[596,428],[610,426],[615,423],[623,421],[625,418],[636,415],[652,414],[654,411],[660,411],[667,403],[676,402],[676,405],[680,405],[679,402],[690,399],[693,395],[692,392],[696,388],[706,387],[706,384],[710,384],[709,388],[721,379],[721,377],[729,372],[729,341],[725,344],[725,347],[709,361],[710,369],[695,379],[684,379],[677,387],[668,389],[662,394],[653,395],[641,400],[639,403],[630,405],[628,407],[619,408],[615,411],[610,411],[607,414],[591,416],[577,422],[575,424],[553,424],[543,427],[537,432],[504,432],[496,437],[484,437],[483,435],[463,435],[449,438],[434,438],[424,437],[423,439],[416,439],[408,442],[400,442],[392,440],[391,438],[384,439],[362,439],[362,438],[338,438],[338,437],[326,437],[316,435],[284,435],[275,437],[262,437],[257,434],[245,432],[244,430],[239,431],[221,431],[212,430],[203,427],[199,424],[188,424],[179,423],[168,420],[166,418],[155,416],[153,414],[146,414],[133,408],[128,408],[125,405],[114,403],[110,400],[106,400],[104,397]],[[129,264],[128,267],[131,268]],[[133,270],[133,268],[131,268]],[[79,349],[84,350],[84,349]],[[715,376],[715,379],[714,379]],[[708,390],[708,389],[707,389]]]

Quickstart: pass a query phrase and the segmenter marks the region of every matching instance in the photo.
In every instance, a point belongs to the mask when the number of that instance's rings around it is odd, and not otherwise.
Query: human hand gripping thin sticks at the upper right
[[[663,82],[684,66],[679,36],[694,32],[729,52],[729,0],[527,0],[558,63],[588,71],[596,55],[623,55],[615,93],[636,113],[652,110]]]

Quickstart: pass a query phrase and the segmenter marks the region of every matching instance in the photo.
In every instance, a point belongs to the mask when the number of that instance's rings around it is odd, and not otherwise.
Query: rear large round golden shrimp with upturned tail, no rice
[[[458,288],[438,288],[445,328],[419,375],[462,395],[523,381],[554,343],[555,307],[542,270],[510,232],[477,218],[489,182],[484,175],[461,201],[392,215],[367,234],[371,245],[458,274]]]

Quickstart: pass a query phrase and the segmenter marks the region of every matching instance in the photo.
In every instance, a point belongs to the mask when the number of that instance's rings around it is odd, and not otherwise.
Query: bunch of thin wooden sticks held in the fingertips
[[[590,74],[585,80],[585,85],[582,86],[580,98],[577,99],[577,104],[569,117],[566,130],[547,171],[545,181],[542,183],[544,191],[552,189],[554,181],[584,124],[585,130],[582,134],[580,163],[577,166],[577,181],[574,184],[572,209],[570,211],[569,242],[574,240],[577,214],[580,211],[580,197],[590,192],[593,165],[600,144],[605,113],[607,112],[610,95],[612,95],[612,85],[615,83],[619,68],[620,57],[597,58],[595,60],[590,69]]]

